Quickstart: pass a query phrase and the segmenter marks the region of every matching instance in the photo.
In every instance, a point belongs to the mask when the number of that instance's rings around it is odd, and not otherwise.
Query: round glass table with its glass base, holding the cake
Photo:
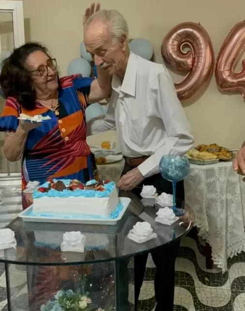
[[[134,256],[175,243],[193,226],[191,208],[177,200],[184,215],[171,226],[155,222],[153,199],[132,192],[130,205],[116,225],[24,222],[16,218],[7,228],[15,232],[16,248],[0,251],[5,266],[7,310],[130,311],[134,310]],[[151,224],[157,237],[145,243],[128,239],[138,222]],[[63,233],[86,236],[84,252],[62,252]],[[25,276],[26,290],[16,294],[16,278]],[[17,281],[18,284],[18,281]]]

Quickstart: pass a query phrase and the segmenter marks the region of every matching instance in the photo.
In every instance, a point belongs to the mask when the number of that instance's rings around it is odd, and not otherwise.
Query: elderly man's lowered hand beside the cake
[[[133,188],[137,187],[138,184],[143,180],[143,175],[140,173],[138,167],[135,167],[122,176],[122,178],[117,183],[117,187],[124,191],[132,190]]]

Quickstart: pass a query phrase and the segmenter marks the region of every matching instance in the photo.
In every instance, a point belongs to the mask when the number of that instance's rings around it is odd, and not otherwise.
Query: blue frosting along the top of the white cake
[[[57,182],[58,180],[54,179],[54,182]],[[63,184],[68,187],[70,185],[70,182],[72,180],[69,179],[61,179],[60,181],[63,182]],[[89,180],[86,183],[86,186],[89,186],[93,183],[97,182],[96,180]],[[47,188],[49,186],[49,181],[46,181],[44,184],[42,184],[39,188]],[[97,191],[97,190],[82,190],[82,189],[76,189],[76,190],[68,190],[64,189],[62,191],[57,191],[55,189],[50,189],[48,192],[39,192],[38,189],[34,191],[33,198],[41,198],[41,197],[108,197],[110,196],[111,192],[116,187],[116,184],[114,181],[110,181],[107,184],[104,185],[105,191]]]

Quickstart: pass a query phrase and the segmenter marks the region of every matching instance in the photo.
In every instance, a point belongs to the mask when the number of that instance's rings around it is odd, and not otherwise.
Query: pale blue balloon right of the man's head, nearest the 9
[[[153,47],[149,40],[137,38],[129,43],[129,49],[148,61],[153,57]]]

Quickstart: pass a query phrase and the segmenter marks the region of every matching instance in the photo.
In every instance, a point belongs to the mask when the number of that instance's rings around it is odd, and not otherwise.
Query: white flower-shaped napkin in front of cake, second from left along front
[[[86,236],[80,231],[65,232],[61,243],[62,252],[84,252]]]

